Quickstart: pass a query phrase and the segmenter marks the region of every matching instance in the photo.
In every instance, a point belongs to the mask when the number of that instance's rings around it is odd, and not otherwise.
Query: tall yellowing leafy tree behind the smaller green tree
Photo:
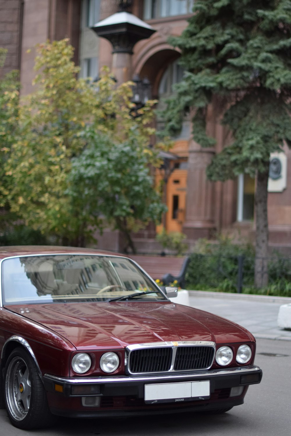
[[[6,174],[13,185],[8,195],[10,207],[31,228],[53,235],[63,244],[84,245],[96,228],[103,228],[104,217],[109,217],[96,206],[107,202],[107,210],[111,211],[112,207],[109,208],[106,191],[100,190],[97,184],[91,186],[89,192],[82,192],[81,185],[74,184],[72,161],[75,159],[76,167],[78,158],[81,165],[92,150],[96,153],[91,154],[94,159],[99,159],[103,153],[100,165],[103,165],[105,180],[104,159],[109,159],[110,155],[105,156],[102,141],[99,151],[98,147],[99,138],[107,135],[112,149],[127,142],[134,148],[134,144],[139,152],[136,158],[143,167],[156,162],[158,146],[154,150],[148,148],[149,138],[154,133],[149,126],[154,102],[148,102],[138,111],[138,116],[133,117],[130,82],[116,87],[107,69],[98,83],[77,78],[79,68],[71,61],[73,48],[66,39],[39,44],[37,52],[36,90],[23,99],[19,107],[19,135],[10,147],[6,165]],[[109,146],[108,141],[106,145]],[[132,164],[130,159],[124,161],[123,173],[130,173]],[[115,170],[119,168],[113,166],[111,171]],[[121,178],[120,174],[115,176]],[[90,177],[88,174],[88,183]],[[150,189],[153,188],[148,184]],[[140,191],[133,187],[132,204],[138,203],[139,196]],[[118,201],[112,199],[116,207]],[[151,204],[147,203],[147,207],[151,209]],[[132,215],[127,209],[120,217],[125,218],[127,212]],[[158,214],[139,213],[137,219],[140,225],[146,225],[149,217],[155,219]],[[114,216],[117,220],[116,213]],[[124,232],[129,229],[121,225],[117,228]]]

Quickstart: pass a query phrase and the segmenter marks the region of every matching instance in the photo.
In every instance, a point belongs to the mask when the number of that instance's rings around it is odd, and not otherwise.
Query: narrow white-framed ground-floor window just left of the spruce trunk
[[[237,221],[253,220],[255,180],[248,174],[240,174],[237,184]]]

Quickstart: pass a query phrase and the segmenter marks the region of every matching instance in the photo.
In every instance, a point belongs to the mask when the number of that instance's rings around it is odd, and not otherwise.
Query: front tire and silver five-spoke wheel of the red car
[[[3,388],[7,415],[15,427],[28,430],[48,425],[51,413],[45,388],[34,361],[22,347],[7,359]]]

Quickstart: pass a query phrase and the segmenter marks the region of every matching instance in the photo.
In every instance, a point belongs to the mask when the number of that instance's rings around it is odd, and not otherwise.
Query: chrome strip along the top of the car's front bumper
[[[112,375],[111,377],[103,377],[103,376],[97,376],[97,377],[78,377],[78,378],[72,378],[72,377],[57,377],[55,375],[51,374],[45,374],[44,378],[47,378],[51,381],[55,381],[57,383],[71,383],[72,385],[82,385],[82,384],[96,384],[96,383],[128,383],[128,382],[136,382],[136,381],[142,381],[142,382],[151,382],[151,381],[165,381],[165,382],[171,382],[172,380],[178,381],[178,380],[185,380],[188,378],[201,378],[201,377],[215,377],[217,375],[244,375],[248,374],[249,372],[258,372],[260,371],[260,367],[256,365],[247,365],[245,367],[237,367],[237,368],[225,368],[225,369],[212,369],[210,371],[204,371],[204,372],[197,372],[193,374],[165,374],[165,375],[151,375],[151,376],[137,376],[137,377],[131,377],[131,376],[124,376],[124,375]]]

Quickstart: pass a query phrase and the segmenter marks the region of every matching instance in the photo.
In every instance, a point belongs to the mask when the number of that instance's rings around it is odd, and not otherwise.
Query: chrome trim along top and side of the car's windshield
[[[64,255],[68,255],[68,256],[84,256],[84,255],[92,255],[92,256],[96,256],[96,257],[115,257],[116,259],[127,259],[129,262],[134,263],[135,266],[137,266],[138,269],[140,269],[140,271],[142,271],[151,281],[151,283],[154,284],[154,287],[157,288],[157,293],[160,292],[165,298],[163,300],[156,300],[156,301],[170,301],[167,297],[167,295],[163,292],[163,290],[161,290],[161,288],[159,286],[157,286],[157,283],[154,281],[154,279],[151,278],[151,276],[149,276],[149,274],[147,274],[147,272],[137,263],[135,262],[135,260],[130,259],[130,257],[126,257],[126,256],[118,256],[118,255],[114,255],[114,254],[103,254],[103,253],[88,253],[88,252],[77,252],[77,253],[72,253],[72,252],[59,252],[59,253],[55,253],[55,252],[51,252],[51,253],[36,253],[36,254],[21,254],[21,255],[16,255],[16,256],[7,256],[7,257],[3,257],[3,259],[0,260],[0,308],[3,307],[3,298],[2,298],[2,263],[4,260],[7,259],[17,259],[20,257],[40,257],[40,256],[64,256]],[[155,301],[155,300],[154,300]],[[17,303],[15,303],[17,304]]]

